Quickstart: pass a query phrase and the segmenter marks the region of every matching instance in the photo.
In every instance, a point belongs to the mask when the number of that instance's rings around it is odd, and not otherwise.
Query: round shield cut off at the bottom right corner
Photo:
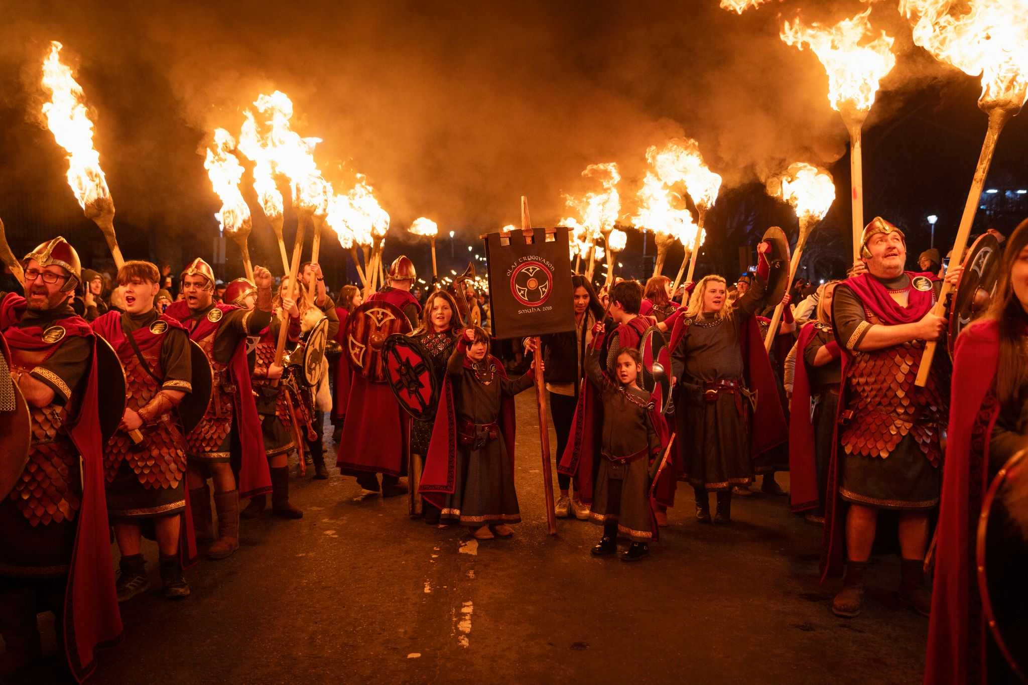
[[[976,561],[982,613],[996,647],[1025,680],[1028,665],[1028,450],[1011,457],[982,501]],[[991,679],[990,679],[991,680]]]

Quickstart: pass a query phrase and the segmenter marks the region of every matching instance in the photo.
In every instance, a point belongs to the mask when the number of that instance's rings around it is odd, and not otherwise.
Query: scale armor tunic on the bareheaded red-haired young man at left
[[[121,314],[122,331],[132,335],[157,321],[157,312],[143,318]],[[118,349],[125,373],[125,406],[139,411],[161,389],[192,390],[189,340],[184,331],[169,329],[159,345],[141,350],[157,381],[140,364],[132,345]],[[185,509],[185,437],[173,409],[140,429],[144,442],[136,446],[122,430],[114,431],[104,448],[104,477],[107,480],[107,509],[112,519],[163,517]]]

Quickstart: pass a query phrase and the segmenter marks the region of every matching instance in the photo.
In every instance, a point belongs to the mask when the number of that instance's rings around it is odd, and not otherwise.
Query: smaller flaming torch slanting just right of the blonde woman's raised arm
[[[800,259],[803,257],[803,248],[807,244],[807,236],[810,231],[832,207],[835,201],[835,182],[832,175],[824,169],[804,162],[797,162],[788,167],[788,170],[780,177],[775,177],[768,181],[768,194],[772,197],[780,197],[796,210],[796,217],[800,220],[800,236],[796,240],[796,252],[788,265],[788,280],[785,282],[790,287],[793,278],[796,277],[796,270],[800,266]],[[778,325],[781,324],[781,314],[784,305],[779,302],[774,308],[774,316],[771,317],[771,326],[768,327],[768,335],[764,340],[764,347],[771,349],[771,343],[778,334]]]

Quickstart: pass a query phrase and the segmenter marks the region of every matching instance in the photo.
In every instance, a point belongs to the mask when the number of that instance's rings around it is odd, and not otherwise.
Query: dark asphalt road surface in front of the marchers
[[[124,639],[90,682],[920,682],[927,619],[897,605],[894,556],[869,570],[864,613],[837,618],[820,530],[786,498],[736,497],[730,525],[701,525],[683,484],[648,559],[594,559],[599,526],[547,535],[530,390],[517,420],[513,539],[411,521],[403,497],[362,500],[353,478],[308,470],[292,481],[303,519],[244,521],[238,551],[187,572],[187,600],[160,597],[148,543],[153,587],[121,605]]]

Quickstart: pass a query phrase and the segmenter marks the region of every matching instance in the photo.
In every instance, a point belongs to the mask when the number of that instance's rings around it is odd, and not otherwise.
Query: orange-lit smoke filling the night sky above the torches
[[[695,138],[726,188],[796,160],[830,164],[846,149],[820,64],[778,38],[779,13],[792,16],[796,3],[742,16],[715,0],[229,4],[8,7],[2,187],[45,188],[47,212],[77,212],[62,190],[61,151],[37,121],[51,39],[96,111],[119,221],[172,234],[213,221],[197,154],[210,132],[237,131],[242,111],[274,88],[293,100],[294,128],[324,139],[316,158],[337,189],[366,174],[395,225],[424,215],[469,236],[516,223],[522,194],[537,224],[554,223],[562,192],[593,188],[580,174],[595,162],[618,162],[630,214],[646,148],[673,136]],[[834,22],[865,7],[816,6],[804,16]],[[907,47],[894,7],[876,6],[872,18],[891,23]],[[884,87],[901,90],[910,73]]]

